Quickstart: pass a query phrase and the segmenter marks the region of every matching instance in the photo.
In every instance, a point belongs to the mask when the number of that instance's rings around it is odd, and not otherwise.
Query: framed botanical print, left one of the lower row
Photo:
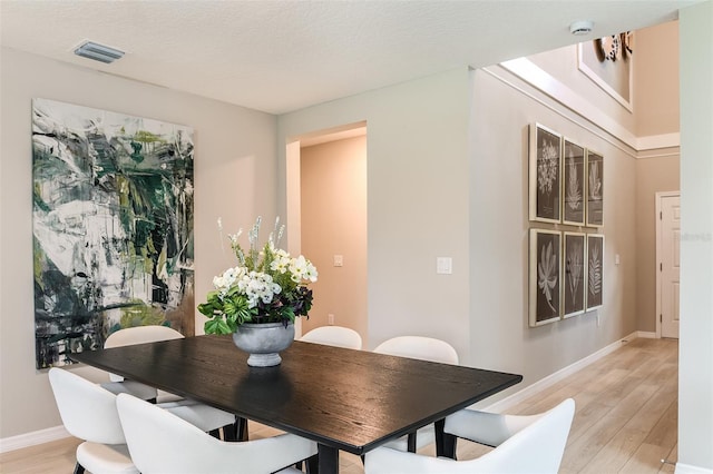
[[[554,323],[561,314],[561,234],[530,229],[529,324]]]

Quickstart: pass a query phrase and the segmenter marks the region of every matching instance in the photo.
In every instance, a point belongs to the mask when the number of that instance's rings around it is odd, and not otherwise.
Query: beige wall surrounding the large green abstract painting
[[[276,118],[3,48],[0,55],[0,438],[61,425],[35,368],[31,100],[47,98],[194,128],[196,298],[232,265],[226,229],[276,209]],[[229,246],[226,246],[229,248]],[[196,312],[196,333],[203,316]],[[85,367],[86,369],[87,367]],[[97,376],[97,374],[94,374]]]

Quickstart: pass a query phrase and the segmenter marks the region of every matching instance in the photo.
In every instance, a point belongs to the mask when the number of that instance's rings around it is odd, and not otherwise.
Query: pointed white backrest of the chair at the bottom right
[[[567,398],[500,446],[471,462],[477,462],[478,472],[556,473],[574,415],[575,402]]]

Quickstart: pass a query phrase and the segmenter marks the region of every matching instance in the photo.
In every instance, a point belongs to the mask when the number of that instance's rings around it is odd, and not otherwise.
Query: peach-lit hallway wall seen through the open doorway
[[[368,345],[367,136],[302,148],[301,178],[302,253],[320,274],[302,332],[326,326],[332,314]]]

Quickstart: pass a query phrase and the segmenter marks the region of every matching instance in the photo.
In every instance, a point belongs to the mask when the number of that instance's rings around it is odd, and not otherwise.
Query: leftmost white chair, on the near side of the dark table
[[[124,438],[116,395],[57,367],[49,369],[49,382],[65,428],[84,440],[77,446],[75,473],[138,473]]]

